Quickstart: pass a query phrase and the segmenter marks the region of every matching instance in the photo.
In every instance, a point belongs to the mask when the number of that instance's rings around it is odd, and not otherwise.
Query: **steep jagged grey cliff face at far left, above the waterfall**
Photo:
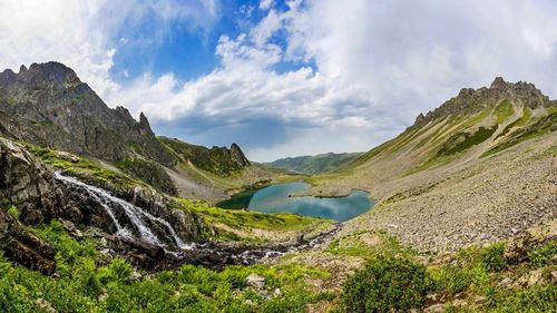
[[[110,109],[58,62],[1,72],[0,111],[4,136],[110,162],[139,154],[165,166],[176,163],[143,114],[138,123],[123,107]]]

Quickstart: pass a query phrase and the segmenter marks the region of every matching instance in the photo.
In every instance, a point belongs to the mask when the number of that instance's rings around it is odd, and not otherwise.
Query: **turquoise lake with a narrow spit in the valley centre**
[[[264,213],[293,213],[345,222],[368,212],[375,204],[369,198],[370,194],[362,190],[352,190],[349,196],[335,198],[289,197],[291,194],[307,189],[310,185],[305,183],[278,184],[236,194],[217,206]]]

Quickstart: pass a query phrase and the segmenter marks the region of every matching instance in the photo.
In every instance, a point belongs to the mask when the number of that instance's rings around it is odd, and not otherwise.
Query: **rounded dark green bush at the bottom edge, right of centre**
[[[426,267],[405,258],[378,257],[343,285],[342,311],[409,311],[423,305]]]

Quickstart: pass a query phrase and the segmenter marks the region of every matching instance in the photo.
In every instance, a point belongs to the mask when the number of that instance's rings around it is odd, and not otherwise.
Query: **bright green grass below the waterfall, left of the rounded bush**
[[[309,304],[334,297],[307,283],[330,274],[305,265],[222,272],[184,265],[137,280],[126,261],[108,260],[97,253],[95,241],[71,238],[56,221],[32,231],[58,251],[56,274],[45,276],[0,256],[1,312],[45,312],[40,303],[58,312],[305,312]],[[265,278],[263,291],[245,284],[250,274]]]

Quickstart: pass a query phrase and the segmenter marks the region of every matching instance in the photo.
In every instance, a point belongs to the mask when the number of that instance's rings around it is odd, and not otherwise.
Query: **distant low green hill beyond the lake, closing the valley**
[[[321,154],[281,158],[265,165],[303,174],[322,174],[334,172],[359,158],[363,153]]]

